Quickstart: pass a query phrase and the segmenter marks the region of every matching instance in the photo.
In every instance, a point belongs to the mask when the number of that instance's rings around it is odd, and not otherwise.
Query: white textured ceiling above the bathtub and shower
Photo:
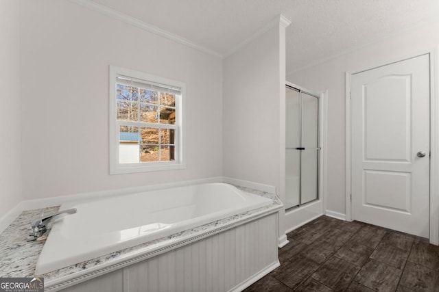
[[[439,18],[439,0],[93,1],[221,55],[283,14],[287,72]]]

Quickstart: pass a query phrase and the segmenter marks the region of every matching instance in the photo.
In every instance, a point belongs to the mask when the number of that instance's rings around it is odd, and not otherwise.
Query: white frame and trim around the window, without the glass
[[[169,87],[180,88],[181,95],[176,96],[176,131],[175,131],[175,155],[174,161],[139,162],[139,163],[119,163],[119,131],[120,121],[117,120],[117,100],[116,83],[118,76],[131,77],[133,79],[144,80],[145,83],[158,83]],[[159,170],[177,170],[186,168],[185,162],[185,102],[186,102],[186,83],[175,81],[164,77],[150,75],[144,72],[109,66],[109,160],[110,174],[127,174],[134,172],[152,172]],[[132,122],[136,127],[148,127],[150,123]],[[154,127],[161,128],[161,124]],[[165,127],[163,127],[165,128]]]

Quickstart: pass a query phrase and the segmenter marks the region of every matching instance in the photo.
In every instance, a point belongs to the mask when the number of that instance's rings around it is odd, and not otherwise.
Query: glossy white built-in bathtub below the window
[[[54,222],[36,275],[272,204],[225,183],[191,185],[62,204],[78,212]]]

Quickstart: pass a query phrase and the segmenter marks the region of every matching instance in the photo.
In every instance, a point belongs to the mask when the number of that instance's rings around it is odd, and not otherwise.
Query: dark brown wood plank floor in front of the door
[[[439,291],[439,247],[322,216],[287,234],[281,266],[245,291]]]

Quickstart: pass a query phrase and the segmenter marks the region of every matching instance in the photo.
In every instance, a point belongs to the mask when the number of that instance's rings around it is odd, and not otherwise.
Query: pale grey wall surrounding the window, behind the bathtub
[[[24,199],[222,175],[221,58],[71,1],[20,22]],[[109,175],[109,64],[186,83],[187,169]]]

